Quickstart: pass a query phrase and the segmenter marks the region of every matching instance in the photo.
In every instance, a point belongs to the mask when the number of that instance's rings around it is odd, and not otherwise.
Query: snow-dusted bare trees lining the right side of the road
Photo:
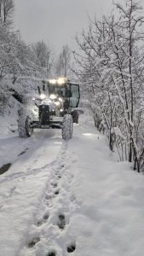
[[[143,158],[144,16],[141,6],[127,0],[116,3],[114,14],[90,21],[89,32],[77,38],[82,54],[74,53],[89,106],[109,145],[118,148],[120,160],[134,161],[138,172]],[[115,10],[114,10],[115,11]]]

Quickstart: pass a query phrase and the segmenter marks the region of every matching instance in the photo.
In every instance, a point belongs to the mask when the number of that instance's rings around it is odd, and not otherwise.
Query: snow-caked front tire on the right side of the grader
[[[62,138],[69,140],[72,138],[73,120],[71,114],[65,114],[62,121]]]

